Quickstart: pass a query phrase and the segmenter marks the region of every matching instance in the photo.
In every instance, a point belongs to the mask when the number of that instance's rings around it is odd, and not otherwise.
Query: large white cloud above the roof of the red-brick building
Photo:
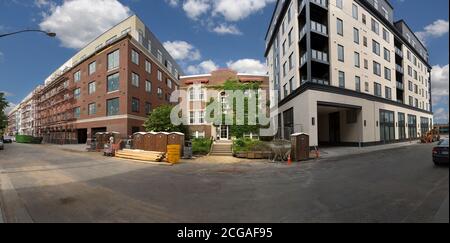
[[[130,15],[117,0],[67,0],[44,14],[39,26],[55,32],[62,46],[79,49]]]

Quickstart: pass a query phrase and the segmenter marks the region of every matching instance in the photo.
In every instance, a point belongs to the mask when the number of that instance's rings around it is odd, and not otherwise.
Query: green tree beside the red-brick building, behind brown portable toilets
[[[170,113],[174,107],[163,105],[153,110],[144,123],[147,132],[181,132],[187,136],[187,128],[184,125],[175,126],[170,120]]]

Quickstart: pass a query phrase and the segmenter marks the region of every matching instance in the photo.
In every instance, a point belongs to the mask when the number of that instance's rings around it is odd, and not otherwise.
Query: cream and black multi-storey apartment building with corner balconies
[[[428,51],[387,0],[279,0],[265,56],[280,137],[366,146],[432,127]]]

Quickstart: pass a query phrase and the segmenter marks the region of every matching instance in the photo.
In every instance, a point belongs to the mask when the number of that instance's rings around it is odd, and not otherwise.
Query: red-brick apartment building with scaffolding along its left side
[[[143,131],[153,108],[170,103],[181,68],[155,35],[131,16],[54,72],[37,93],[38,136],[85,143],[97,132]]]

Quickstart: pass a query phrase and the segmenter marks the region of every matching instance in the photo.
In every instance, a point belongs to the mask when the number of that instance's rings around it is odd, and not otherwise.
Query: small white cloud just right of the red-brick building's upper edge
[[[166,41],[163,45],[175,60],[197,61],[201,58],[200,51],[186,41]]]

